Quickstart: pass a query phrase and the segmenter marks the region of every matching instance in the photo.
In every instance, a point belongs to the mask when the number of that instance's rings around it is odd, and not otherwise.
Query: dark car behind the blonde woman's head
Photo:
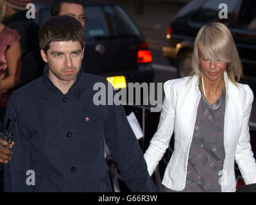
[[[219,18],[226,4],[227,19]],[[220,6],[219,6],[220,5]],[[230,29],[243,64],[243,81],[256,82],[256,1],[193,0],[176,13],[167,29],[167,46],[162,52],[182,78],[192,71],[192,49],[199,29],[210,22],[222,22]]]

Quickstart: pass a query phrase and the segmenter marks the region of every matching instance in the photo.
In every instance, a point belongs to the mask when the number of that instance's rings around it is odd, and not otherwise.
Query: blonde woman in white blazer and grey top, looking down
[[[192,67],[191,76],[164,83],[158,130],[144,154],[149,174],[174,131],[175,148],[162,180],[166,192],[235,192],[234,161],[245,183],[256,183],[248,127],[253,92],[236,82],[241,61],[224,24],[200,29]]]

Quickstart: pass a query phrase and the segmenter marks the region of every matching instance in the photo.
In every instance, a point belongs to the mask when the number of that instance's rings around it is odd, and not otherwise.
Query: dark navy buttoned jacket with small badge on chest
[[[112,192],[104,138],[133,192],[155,192],[141,147],[123,106],[94,104],[101,76],[79,72],[67,94],[47,76],[13,92],[6,118],[16,118],[12,160],[4,167],[5,192]],[[6,122],[5,122],[6,124]],[[26,185],[28,170],[35,185]],[[28,179],[28,181],[30,181]]]

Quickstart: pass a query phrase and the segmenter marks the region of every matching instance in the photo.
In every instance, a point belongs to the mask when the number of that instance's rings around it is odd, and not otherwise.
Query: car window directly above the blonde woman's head
[[[225,1],[225,4],[228,6],[228,17],[234,13],[234,10],[237,6],[239,0]],[[196,14],[192,17],[192,20],[198,22],[226,22],[227,19],[219,19],[219,12],[221,8],[219,8],[219,4],[223,3],[223,0],[208,0],[202,4],[201,8],[196,12]]]

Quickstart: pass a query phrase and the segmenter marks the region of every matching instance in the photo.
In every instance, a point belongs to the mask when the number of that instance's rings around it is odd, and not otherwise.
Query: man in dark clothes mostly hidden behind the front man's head
[[[79,20],[85,28],[85,12],[83,0],[55,0],[51,4],[51,16],[70,15]],[[22,60],[21,85],[42,76],[44,61],[40,56],[40,49],[32,51]],[[90,45],[85,45],[82,61],[83,72],[101,75],[101,55]]]

